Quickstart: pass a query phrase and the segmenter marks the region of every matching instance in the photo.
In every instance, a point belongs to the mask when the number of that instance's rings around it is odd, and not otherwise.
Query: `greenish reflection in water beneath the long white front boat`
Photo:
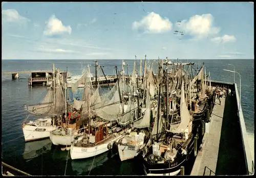
[[[76,172],[77,175],[80,175],[85,172],[89,172],[91,169],[94,169],[102,165],[104,162],[108,161],[109,160],[108,154],[109,152],[107,151],[107,152],[104,152],[103,154],[96,156],[95,159],[94,157],[91,157],[91,158],[82,159],[82,160],[72,160],[71,162],[72,169],[74,172]]]

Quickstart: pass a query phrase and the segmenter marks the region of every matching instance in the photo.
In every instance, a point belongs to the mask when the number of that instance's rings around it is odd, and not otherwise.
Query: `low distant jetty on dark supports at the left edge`
[[[11,74],[12,79],[18,79],[20,73],[31,73],[28,85],[50,85],[53,80],[52,70],[22,70],[22,71],[2,71],[3,74]],[[60,71],[60,74],[67,75],[67,71]],[[62,76],[63,76],[62,75]],[[69,75],[69,73],[68,73]]]

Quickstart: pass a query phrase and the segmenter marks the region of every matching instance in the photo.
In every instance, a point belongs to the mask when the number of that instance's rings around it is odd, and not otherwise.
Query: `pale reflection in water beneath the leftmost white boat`
[[[32,141],[25,143],[23,158],[28,162],[51,150],[52,142],[50,139]]]

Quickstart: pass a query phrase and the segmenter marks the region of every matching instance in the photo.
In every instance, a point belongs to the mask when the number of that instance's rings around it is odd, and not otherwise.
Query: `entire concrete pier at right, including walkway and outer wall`
[[[216,175],[251,175],[254,173],[254,160],[252,160],[251,156],[242,109],[239,111],[240,98],[237,84],[211,81],[211,86],[230,88],[235,93],[234,96],[222,98],[225,101],[224,103],[222,102],[221,106],[217,102],[215,107],[223,107],[222,110],[224,111],[222,113],[220,109],[215,109],[215,113],[211,116],[214,118],[214,122],[209,122],[210,125],[208,126],[212,128],[212,124],[216,126],[222,120],[221,130],[211,129],[209,133],[205,134],[190,175],[208,175],[207,173],[205,174],[205,170]],[[220,118],[222,119],[220,120]],[[212,146],[209,146],[213,144],[210,141],[211,137],[214,138],[217,135],[219,135],[220,140],[214,145],[220,146],[218,149],[212,149]],[[218,158],[215,155],[218,155]],[[214,157],[215,159],[213,159]],[[214,160],[215,163],[213,163]],[[210,167],[216,167],[216,169],[208,168],[207,166],[209,165],[207,164],[210,164]],[[208,169],[205,169],[205,167]]]

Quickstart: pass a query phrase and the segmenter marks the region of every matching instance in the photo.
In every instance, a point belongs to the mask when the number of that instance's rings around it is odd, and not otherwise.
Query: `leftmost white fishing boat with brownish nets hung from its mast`
[[[54,68],[54,67],[53,67]],[[32,141],[50,137],[50,132],[58,128],[65,107],[64,95],[60,84],[59,70],[57,74],[57,87],[55,87],[55,69],[54,85],[48,89],[48,92],[40,104],[24,105],[24,110],[37,117],[36,120],[26,120],[22,123],[25,141]],[[38,118],[39,117],[39,118]]]

